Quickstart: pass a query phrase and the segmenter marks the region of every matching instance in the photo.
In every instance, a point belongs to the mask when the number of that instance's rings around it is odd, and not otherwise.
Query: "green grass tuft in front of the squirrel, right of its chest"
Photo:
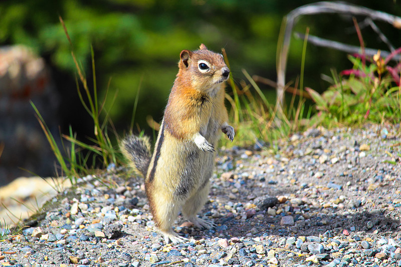
[[[296,88],[298,84],[296,83],[289,105],[285,104],[280,111],[279,106],[268,100],[246,70],[242,70],[242,72],[248,84],[246,82],[241,83],[242,89],[234,83],[234,79],[230,76],[231,92],[226,94],[226,99],[231,105],[230,120],[233,121],[237,132],[236,142],[230,144],[225,140],[223,141],[224,145],[249,146],[255,144],[256,141],[274,144],[275,140],[287,137],[309,125],[308,119],[311,117],[312,109],[309,108],[307,114],[305,114],[305,100],[302,97],[304,95],[302,86],[306,57],[306,38],[302,51],[300,90]],[[226,64],[230,68],[227,53],[224,49],[222,52]],[[300,95],[299,99],[296,93]],[[297,103],[296,100],[298,100]],[[280,114],[278,114],[279,112]]]

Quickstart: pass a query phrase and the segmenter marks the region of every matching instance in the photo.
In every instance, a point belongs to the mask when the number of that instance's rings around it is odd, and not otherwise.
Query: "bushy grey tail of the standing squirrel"
[[[121,152],[130,161],[130,166],[139,175],[146,177],[152,156],[149,137],[138,137],[135,135],[127,136],[120,143]]]

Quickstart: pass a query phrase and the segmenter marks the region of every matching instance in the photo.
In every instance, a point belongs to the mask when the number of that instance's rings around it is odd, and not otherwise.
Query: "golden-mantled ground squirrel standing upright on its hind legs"
[[[121,143],[133,169],[145,177],[153,220],[166,243],[186,240],[172,229],[180,210],[196,227],[214,227],[196,214],[208,198],[219,130],[231,141],[235,134],[224,105],[230,70],[223,56],[202,44],[183,50],[178,67],[153,154],[147,137],[132,135]]]

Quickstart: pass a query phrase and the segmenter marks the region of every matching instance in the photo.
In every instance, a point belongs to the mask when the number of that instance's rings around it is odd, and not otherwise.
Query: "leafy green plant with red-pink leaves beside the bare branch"
[[[328,90],[319,94],[306,89],[321,111],[316,116],[348,124],[383,120],[399,123],[401,63],[393,63],[393,59],[400,54],[401,48],[385,58],[380,56],[380,50],[373,57],[350,55],[353,68],[333,75],[334,84]]]

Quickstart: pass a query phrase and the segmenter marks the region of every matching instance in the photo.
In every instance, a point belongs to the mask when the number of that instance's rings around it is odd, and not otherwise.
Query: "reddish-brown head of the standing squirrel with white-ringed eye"
[[[214,90],[229,78],[230,70],[223,55],[208,50],[204,44],[196,51],[181,51],[179,57],[177,76],[190,79],[194,88]]]

